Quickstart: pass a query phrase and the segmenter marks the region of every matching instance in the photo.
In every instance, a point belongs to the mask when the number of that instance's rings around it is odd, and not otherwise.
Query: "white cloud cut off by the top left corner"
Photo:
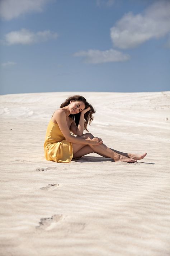
[[[32,11],[42,12],[51,0],[0,0],[0,17],[6,20],[17,18]]]

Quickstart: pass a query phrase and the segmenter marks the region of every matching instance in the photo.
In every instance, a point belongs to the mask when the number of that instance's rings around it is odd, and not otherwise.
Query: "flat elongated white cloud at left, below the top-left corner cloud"
[[[53,33],[49,30],[45,31],[38,31],[36,33],[22,29],[19,31],[11,31],[5,35],[5,39],[3,42],[7,45],[14,45],[14,44],[34,44],[37,42],[47,41],[49,39],[56,39],[57,33]]]

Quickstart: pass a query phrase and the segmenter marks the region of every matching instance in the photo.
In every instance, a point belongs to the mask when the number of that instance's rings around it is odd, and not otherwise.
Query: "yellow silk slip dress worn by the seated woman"
[[[44,156],[48,161],[71,163],[73,157],[72,143],[62,134],[57,123],[49,121],[44,142]]]

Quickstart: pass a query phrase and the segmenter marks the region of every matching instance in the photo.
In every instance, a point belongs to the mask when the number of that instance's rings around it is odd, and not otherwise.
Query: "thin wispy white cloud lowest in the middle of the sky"
[[[85,57],[85,63],[104,63],[104,62],[123,62],[130,58],[128,54],[123,54],[117,50],[107,50],[107,51],[99,51],[99,50],[88,50],[88,51],[79,51],[74,54],[74,56]]]

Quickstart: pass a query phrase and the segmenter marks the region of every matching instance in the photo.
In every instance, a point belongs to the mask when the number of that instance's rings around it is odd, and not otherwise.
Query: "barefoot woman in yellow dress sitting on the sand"
[[[100,138],[90,133],[83,134],[84,129],[88,131],[87,125],[93,120],[93,113],[94,108],[84,97],[74,95],[67,98],[49,121],[44,142],[46,160],[71,163],[72,158],[95,152],[115,162],[134,163],[146,156],[146,153],[137,155],[116,151],[104,145]]]

